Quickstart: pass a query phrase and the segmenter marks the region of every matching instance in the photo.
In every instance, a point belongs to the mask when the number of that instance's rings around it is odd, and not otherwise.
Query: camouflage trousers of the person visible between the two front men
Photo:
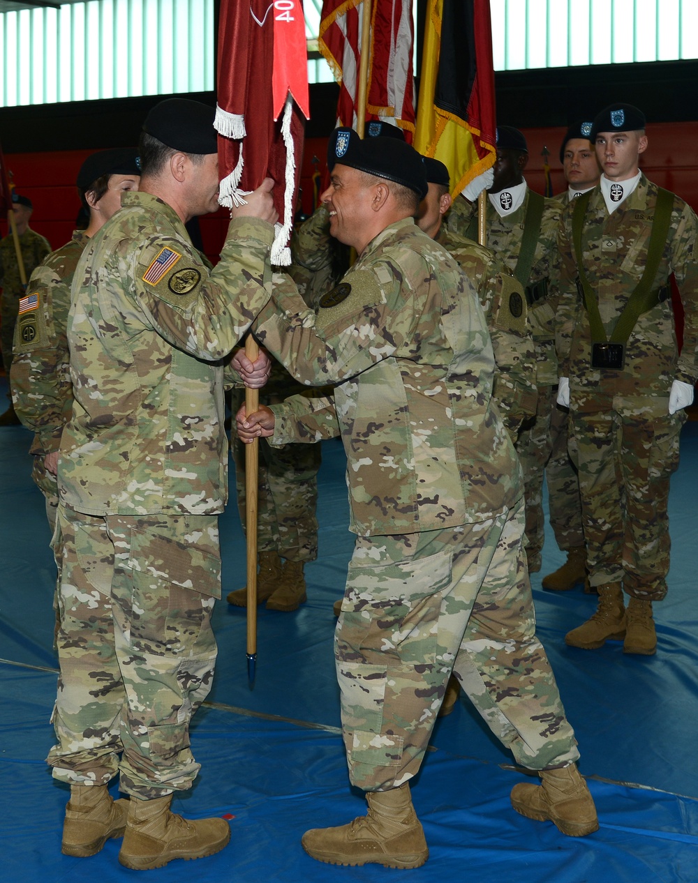
[[[234,447],[238,510],[243,530],[246,525],[245,445],[236,439]],[[259,449],[257,484],[257,547],[260,552],[277,552],[288,561],[317,558],[317,473],[320,444],[287,444],[272,448],[262,439]]]

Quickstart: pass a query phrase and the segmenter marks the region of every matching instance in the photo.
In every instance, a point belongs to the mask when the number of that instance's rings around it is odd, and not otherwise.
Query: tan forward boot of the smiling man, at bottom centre
[[[348,825],[313,828],[301,843],[308,856],[326,864],[383,864],[419,868],[429,858],[409,782],[390,791],[368,791],[368,815]]]

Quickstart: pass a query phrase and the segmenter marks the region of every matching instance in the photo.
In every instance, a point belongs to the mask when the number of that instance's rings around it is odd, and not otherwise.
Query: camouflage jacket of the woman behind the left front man
[[[59,448],[72,413],[66,328],[72,276],[87,241],[83,230],[75,230],[70,242],[34,270],[27,293],[36,295],[36,306],[21,313],[14,330],[12,402],[22,423],[34,430],[32,454]]]

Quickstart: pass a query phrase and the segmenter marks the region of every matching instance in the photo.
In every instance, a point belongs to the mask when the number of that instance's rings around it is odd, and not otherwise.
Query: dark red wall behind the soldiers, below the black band
[[[528,185],[543,191],[542,155],[544,146],[550,150],[553,190],[565,189],[565,179],[559,162],[560,142],[564,128],[525,129],[528,141],[529,161],[526,170]],[[676,192],[698,211],[698,122],[667,123],[649,126],[649,147],[643,155],[642,169],[656,184]],[[322,179],[325,175],[327,140],[307,139],[300,170],[302,205],[308,214],[313,205],[312,162],[316,155],[320,160]],[[5,157],[7,168],[13,173],[17,192],[24,193],[34,202],[31,225],[45,236],[53,248],[63,245],[71,237],[80,200],[74,185],[80,165],[90,150],[71,150],[56,153],[9,154]],[[227,212],[199,219],[201,235],[206,252],[216,258],[223,244],[227,228]],[[2,223],[2,232],[6,223]]]

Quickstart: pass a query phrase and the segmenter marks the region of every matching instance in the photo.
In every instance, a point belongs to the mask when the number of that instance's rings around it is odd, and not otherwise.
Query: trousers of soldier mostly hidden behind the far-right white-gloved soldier
[[[567,448],[570,412],[553,399],[550,411],[550,458],[545,466],[550,526],[564,552],[584,545],[580,479]]]

